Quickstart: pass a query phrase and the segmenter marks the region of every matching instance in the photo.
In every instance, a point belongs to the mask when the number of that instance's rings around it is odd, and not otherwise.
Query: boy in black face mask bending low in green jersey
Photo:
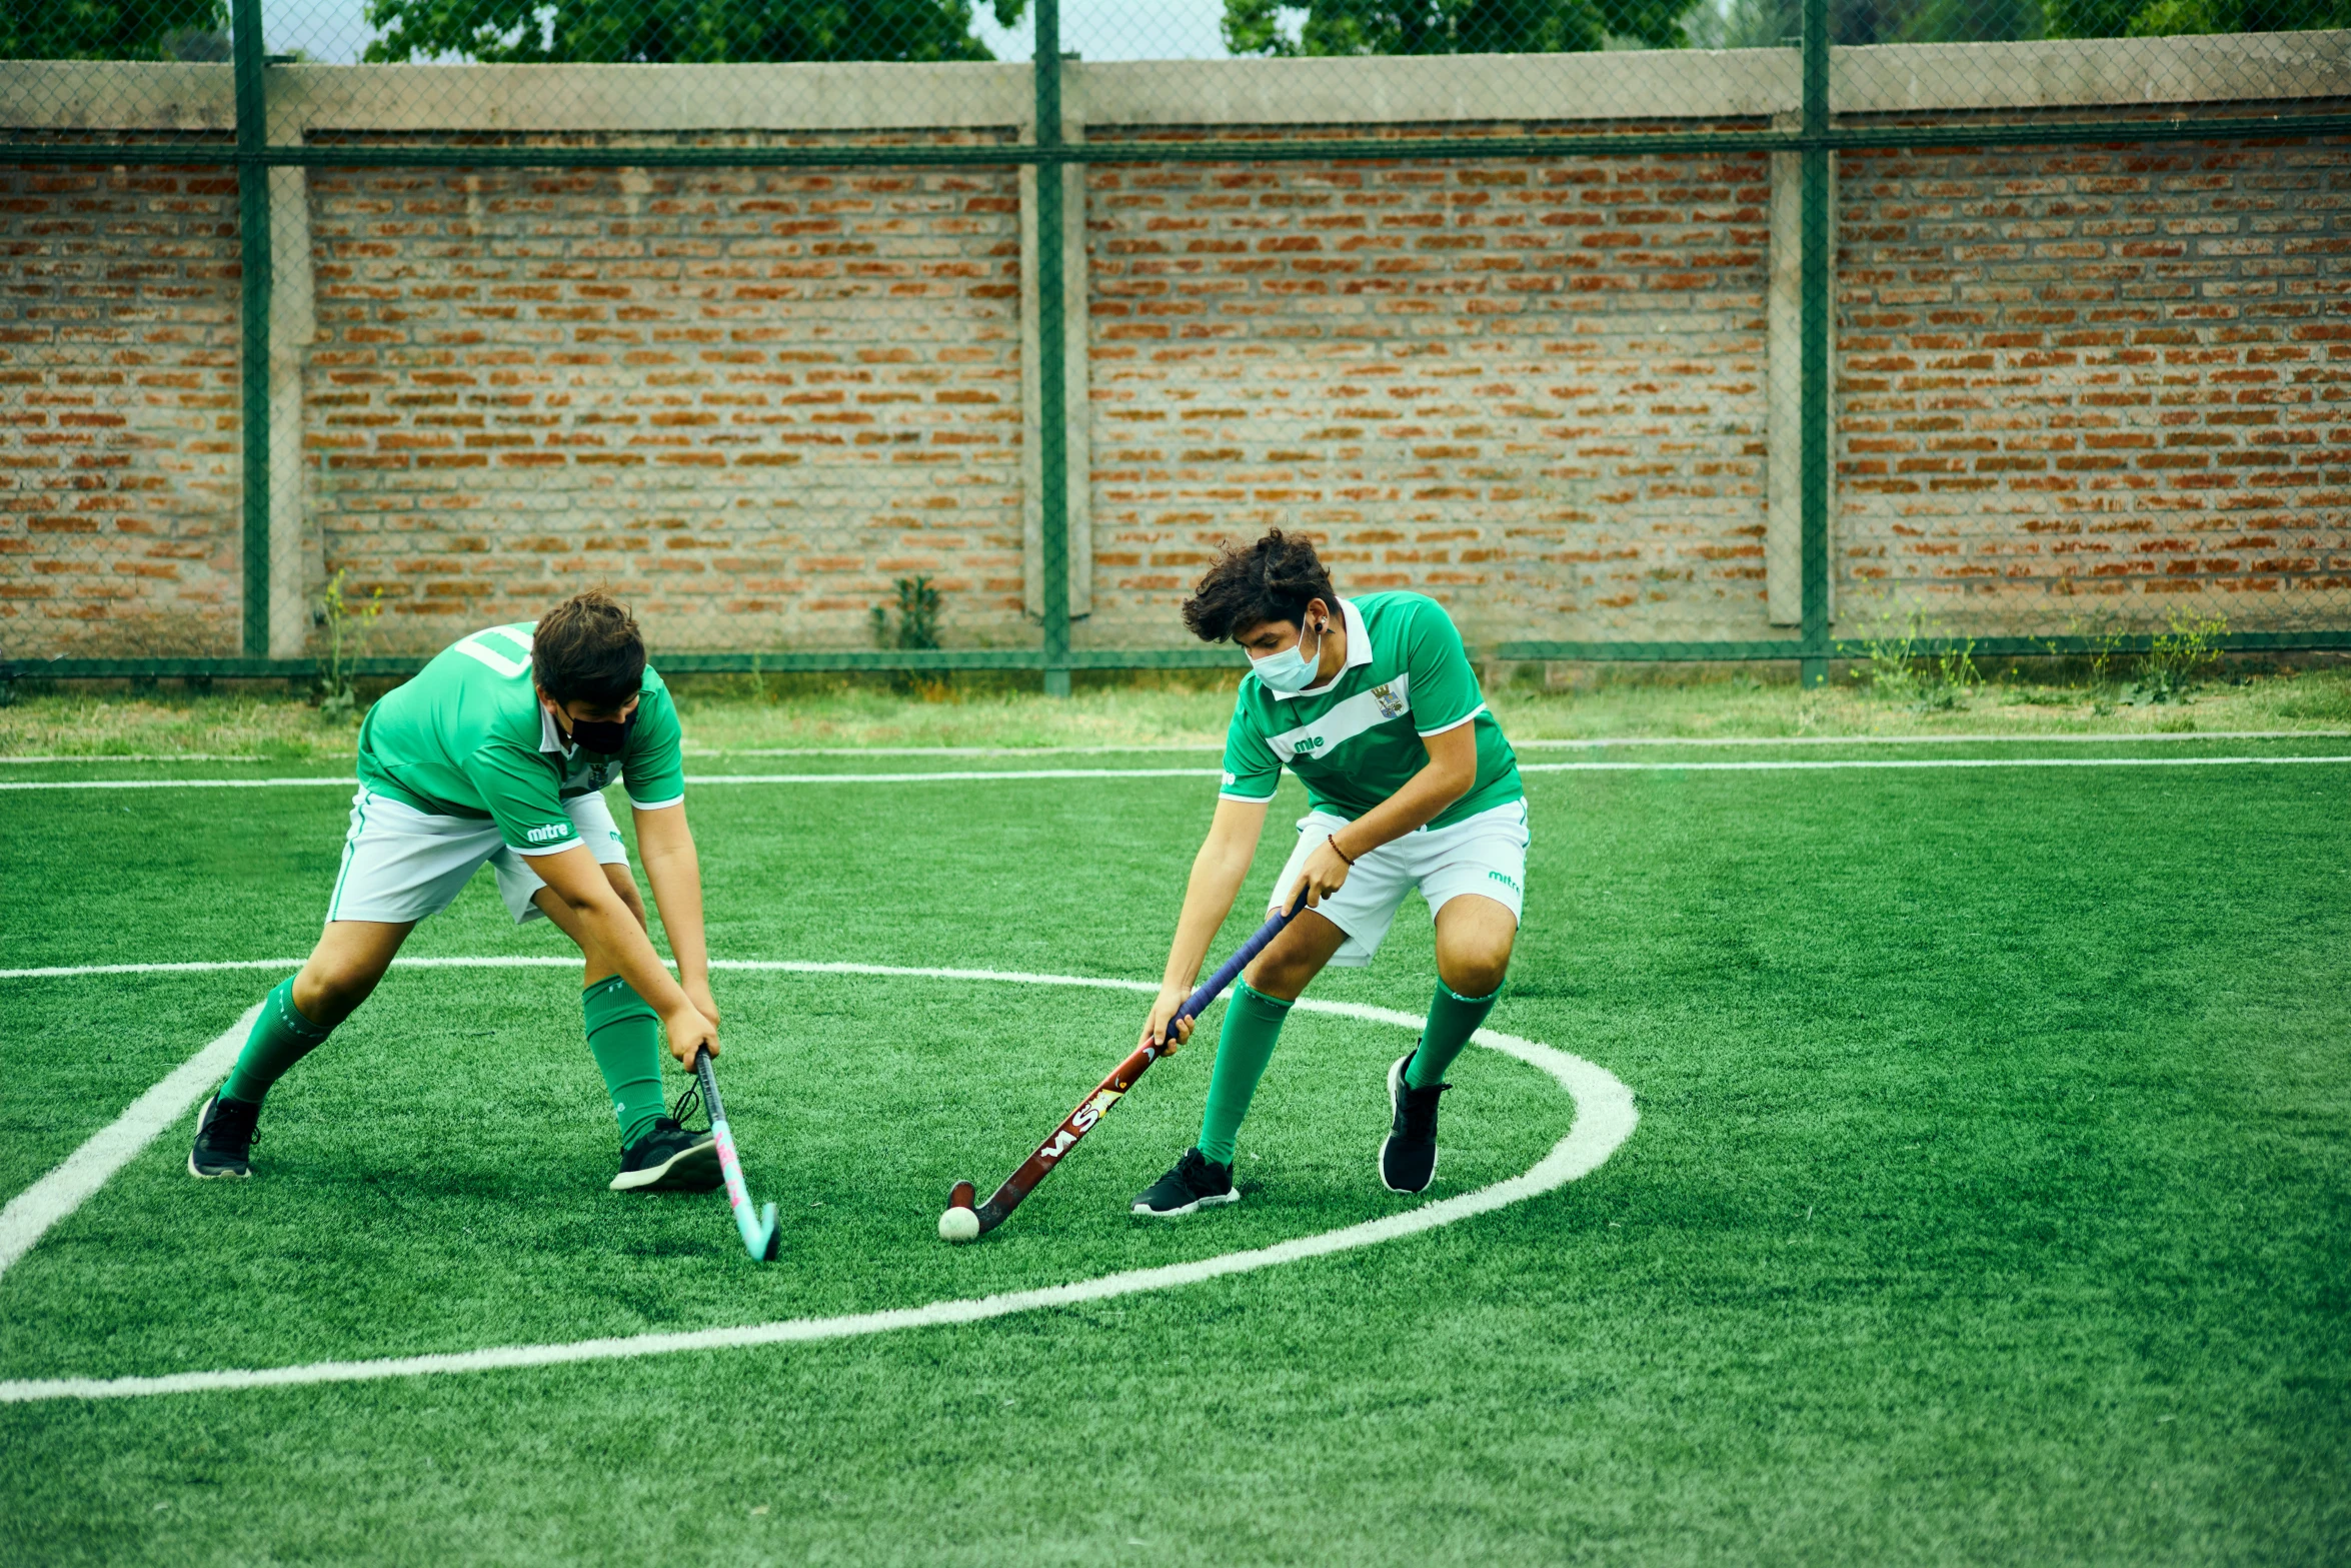
[[[647,936],[644,898],[602,790],[628,790],[637,844],[677,954]],[[661,1110],[661,1044],[691,1067],[719,1051],[703,947],[703,877],[686,830],[677,708],[635,618],[583,592],[442,651],[360,726],[360,792],[310,961],[261,1004],[228,1081],[195,1119],[188,1173],[249,1175],[261,1098],[343,1023],[416,922],[489,865],[515,922],[545,914],[588,961],[581,1009],[614,1114],[616,1190],[719,1185],[710,1133]]]

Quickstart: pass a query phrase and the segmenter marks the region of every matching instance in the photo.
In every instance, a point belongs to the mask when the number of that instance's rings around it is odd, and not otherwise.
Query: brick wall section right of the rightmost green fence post
[[[1838,172],[1841,625],[2351,621],[2351,146]]]

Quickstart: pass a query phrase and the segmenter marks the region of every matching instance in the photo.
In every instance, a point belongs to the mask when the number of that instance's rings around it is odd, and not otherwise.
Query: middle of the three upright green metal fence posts
[[[1060,146],[1060,0],[1037,0],[1037,146]],[[1037,162],[1037,487],[1044,691],[1070,696],[1070,362],[1060,266],[1060,165]]]

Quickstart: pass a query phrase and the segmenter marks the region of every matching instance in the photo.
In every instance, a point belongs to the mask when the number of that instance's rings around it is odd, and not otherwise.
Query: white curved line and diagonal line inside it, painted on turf
[[[517,966],[574,966],[576,959],[414,959],[407,961],[411,969],[517,969]],[[245,961],[219,961],[212,969],[273,969],[282,966],[273,959],[245,959]],[[289,966],[289,964],[284,964]],[[202,964],[169,964],[150,969],[129,969],[129,973],[186,973],[205,969]],[[1025,973],[1004,969],[931,969],[931,966],[905,966],[905,964],[828,964],[828,961],[792,961],[792,959],[717,959],[712,969],[731,971],[776,971],[776,973],[849,973],[849,976],[891,976],[891,978],[952,978],[952,980],[992,980],[1009,985],[1077,985],[1091,990],[1124,990],[1124,992],[1157,992],[1159,987],[1147,980],[1112,980],[1100,976],[1049,976],[1049,973]],[[71,976],[71,973],[127,973],[120,964],[92,964],[85,969],[63,971],[0,971],[7,976]],[[1361,1001],[1317,1001],[1300,997],[1295,1004],[1300,1011],[1331,1013],[1338,1018],[1357,1018],[1364,1023],[1382,1023],[1401,1030],[1422,1027],[1422,1018],[1413,1013],[1399,1013],[1385,1006],[1366,1006]],[[252,1013],[247,1013],[252,1018]],[[242,1020],[240,1020],[242,1023]],[[212,1041],[202,1056],[212,1056],[221,1041],[240,1039],[240,1030],[230,1027],[228,1034]],[[872,1333],[893,1333],[900,1328],[940,1328],[950,1324],[983,1324],[987,1319],[1011,1316],[1016,1312],[1039,1312],[1046,1307],[1079,1307],[1086,1302],[1114,1300],[1121,1295],[1140,1295],[1145,1291],[1173,1291],[1178,1286],[1204,1284],[1208,1279],[1225,1279],[1232,1274],[1253,1274],[1258,1269],[1270,1269],[1284,1262],[1302,1262],[1307,1258],[1328,1258],[1333,1253],[1347,1253],[1364,1246],[1378,1246],[1380,1241],[1396,1241],[1401,1237],[1413,1237],[1425,1229],[1439,1229],[1444,1225],[1455,1225],[1472,1215],[1491,1213],[1495,1208],[1507,1208],[1509,1204],[1521,1204],[1531,1197],[1545,1192],[1556,1192],[1580,1175],[1596,1171],[1627,1138],[1632,1138],[1634,1126],[1641,1121],[1641,1112],[1634,1110],[1632,1088],[1627,1088],[1613,1072],[1587,1063],[1580,1056],[1570,1056],[1556,1046],[1545,1046],[1533,1039],[1521,1039],[1516,1034],[1505,1034],[1500,1030],[1479,1030],[1472,1037],[1479,1046],[1509,1056],[1512,1060],[1526,1063],[1538,1072],[1545,1072],[1561,1088],[1568,1091],[1575,1105],[1575,1119],[1568,1124],[1566,1135],[1552,1145],[1552,1150],[1538,1159],[1521,1175],[1505,1178],[1491,1187],[1479,1187],[1474,1192],[1462,1192],[1458,1197],[1436,1199],[1434,1204],[1422,1204],[1420,1208],[1408,1208],[1404,1213],[1382,1215],[1378,1220],[1364,1220],[1359,1225],[1342,1225],[1340,1229],[1326,1229],[1314,1237],[1295,1237],[1291,1241],[1277,1241],[1272,1246],[1251,1248],[1244,1253],[1223,1253],[1218,1258],[1199,1258],[1192,1262],[1168,1262],[1150,1269],[1126,1269],[1121,1274],[1103,1274],[1096,1279],[1079,1279],[1063,1286],[1039,1286],[1032,1291],[1004,1291],[999,1295],[976,1295],[962,1300],[936,1300],[919,1307],[891,1307],[884,1312],[851,1312],[844,1316],[809,1316],[809,1319],[781,1319],[771,1324],[745,1324],[738,1328],[696,1328],[686,1333],[642,1333],[604,1340],[571,1340],[562,1345],[496,1345],[489,1349],[463,1349],[428,1356],[381,1356],[369,1361],[310,1361],[303,1366],[256,1366],[256,1368],[223,1368],[209,1373],[165,1373],[160,1378],[21,1378],[0,1382],[0,1403],[35,1403],[47,1399],[141,1399],[155,1394],[219,1394],[237,1389],[273,1389],[273,1387],[306,1387],[320,1382],[381,1382],[388,1378],[426,1378],[444,1373],[491,1373],[491,1371],[517,1371],[531,1366],[567,1366],[576,1361],[630,1361],[637,1356],[665,1356],[691,1349],[752,1349],[762,1345],[809,1345],[820,1340],[849,1340]],[[165,1084],[150,1088],[129,1112],[125,1112],[113,1126],[96,1133],[89,1143],[75,1150],[63,1166],[52,1171],[49,1178],[35,1182],[40,1190],[54,1175],[66,1173],[87,1152],[103,1145],[103,1171],[96,1171],[96,1180],[89,1180],[94,1164],[85,1161],[85,1171],[78,1185],[85,1185],[87,1197],[110,1175],[115,1168],[127,1164],[139,1147],[153,1140],[162,1126],[176,1121],[197,1095],[209,1088],[209,1072],[195,1074],[197,1058],[190,1058],[179,1072],[174,1072]],[[181,1084],[186,1079],[193,1088]],[[169,1114],[162,1100],[181,1098]],[[153,1105],[150,1105],[153,1103]],[[134,1124],[136,1119],[136,1124]],[[127,1126],[134,1124],[134,1126]],[[146,1131],[141,1138],[139,1131]],[[134,1143],[136,1140],[136,1143]],[[125,1147],[127,1145],[127,1147]],[[14,1211],[33,1190],[19,1194],[9,1211]],[[80,1204],[80,1197],[73,1204]],[[63,1211],[54,1213],[49,1222],[71,1213],[68,1204]],[[33,1237],[38,1239],[38,1234]],[[31,1239],[26,1241],[31,1246]]]

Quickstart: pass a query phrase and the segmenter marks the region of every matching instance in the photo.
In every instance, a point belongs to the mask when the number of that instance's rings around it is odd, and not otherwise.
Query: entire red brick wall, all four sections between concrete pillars
[[[1288,134],[1288,132],[1284,132]],[[1267,522],[1476,639],[1761,637],[1761,155],[1089,169],[1096,614]],[[2351,146],[1855,153],[1838,630],[2351,621]],[[306,505],[386,649],[1027,644],[1011,169],[308,186]],[[0,654],[230,654],[235,190],[0,169]]]

